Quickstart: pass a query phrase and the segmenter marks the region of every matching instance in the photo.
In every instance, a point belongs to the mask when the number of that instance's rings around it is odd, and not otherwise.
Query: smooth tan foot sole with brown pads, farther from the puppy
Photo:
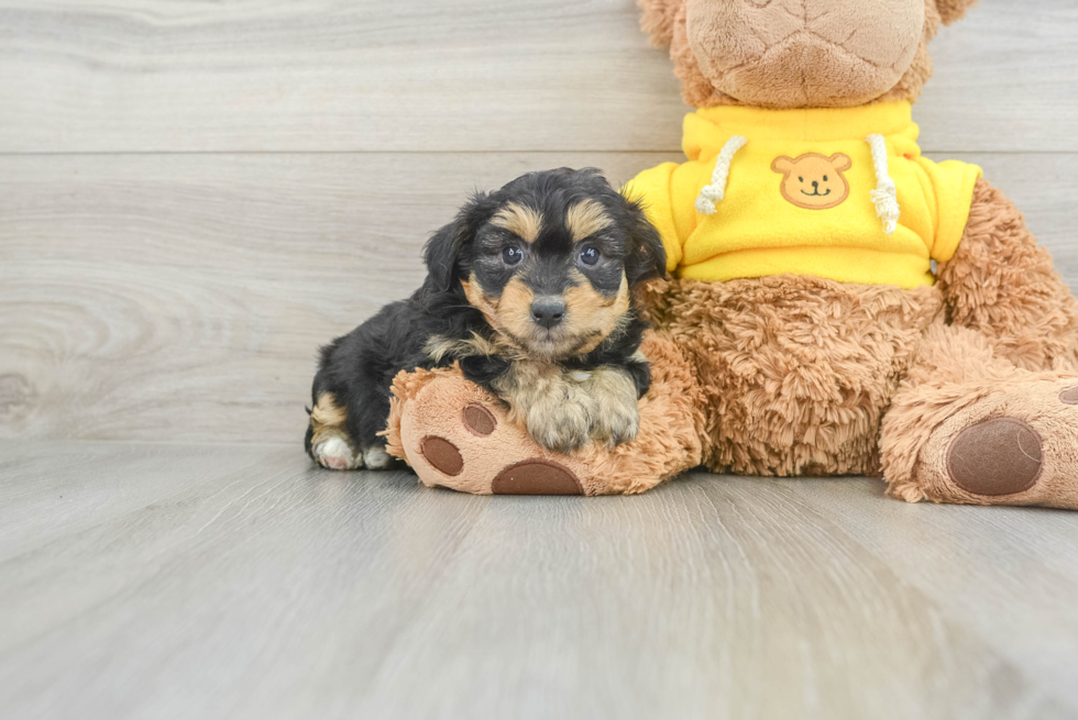
[[[919,490],[944,502],[1078,509],[1078,379],[1008,385],[933,432]]]

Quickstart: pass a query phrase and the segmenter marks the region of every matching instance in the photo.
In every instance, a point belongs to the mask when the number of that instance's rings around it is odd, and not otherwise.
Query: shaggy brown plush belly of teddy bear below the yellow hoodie
[[[938,291],[793,276],[651,289],[656,326],[700,378],[712,469],[879,470],[880,419],[939,313]]]

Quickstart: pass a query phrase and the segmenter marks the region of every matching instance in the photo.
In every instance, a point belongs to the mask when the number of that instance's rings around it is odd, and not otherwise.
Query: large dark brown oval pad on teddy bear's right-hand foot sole
[[[955,485],[975,495],[1023,492],[1043,467],[1041,435],[1016,418],[992,418],[966,428],[947,452]]]

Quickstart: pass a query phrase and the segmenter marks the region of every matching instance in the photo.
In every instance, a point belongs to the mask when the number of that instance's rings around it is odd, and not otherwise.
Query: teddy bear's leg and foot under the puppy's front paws
[[[396,378],[387,450],[431,487],[477,495],[642,492],[700,464],[703,416],[695,377],[676,345],[650,334],[641,350],[652,384],[629,443],[594,443],[573,454],[544,450],[507,419],[496,397],[459,370],[441,369]]]

